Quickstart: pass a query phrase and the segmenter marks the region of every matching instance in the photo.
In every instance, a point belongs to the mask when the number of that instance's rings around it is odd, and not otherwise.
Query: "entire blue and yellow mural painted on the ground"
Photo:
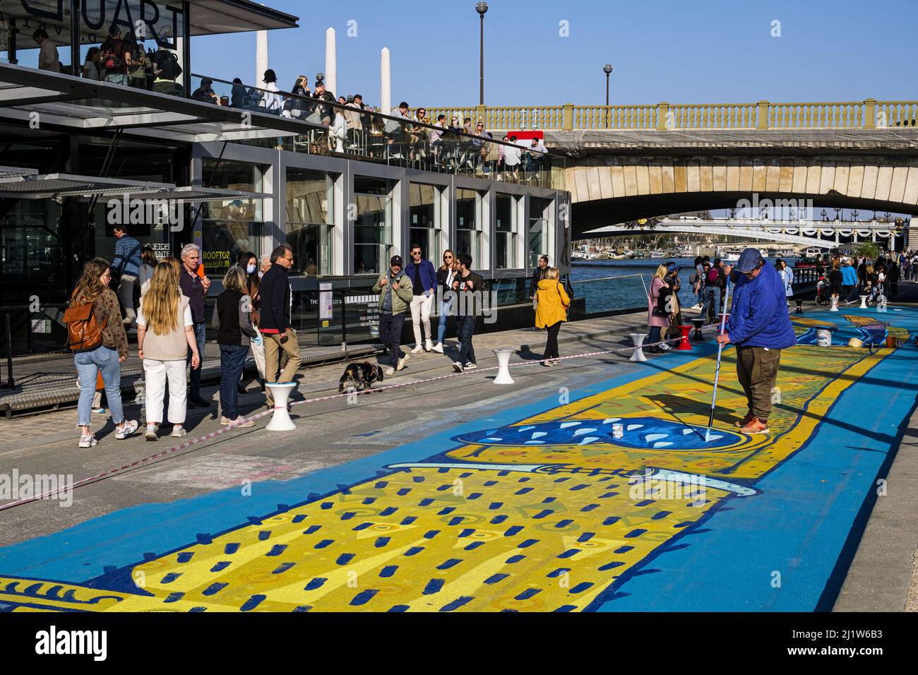
[[[843,333],[876,318],[819,316],[796,321],[801,343],[782,354],[770,434],[733,426],[745,401],[727,349],[704,442],[709,343],[491,426],[269,481],[285,501],[261,513],[241,517],[238,491],[225,491],[0,549],[0,608],[825,608],[912,411],[918,349],[819,347],[807,338],[817,324]],[[918,318],[887,316],[897,326],[884,330],[905,337]],[[196,511],[217,534],[195,529]]]

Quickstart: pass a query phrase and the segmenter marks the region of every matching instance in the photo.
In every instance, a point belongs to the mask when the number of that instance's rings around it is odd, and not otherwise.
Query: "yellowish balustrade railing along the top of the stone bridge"
[[[700,103],[638,106],[426,107],[491,130],[544,129],[901,129],[918,125],[918,101]]]

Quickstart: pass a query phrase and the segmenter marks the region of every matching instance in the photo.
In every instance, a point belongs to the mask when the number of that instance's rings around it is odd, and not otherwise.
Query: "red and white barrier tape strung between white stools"
[[[707,326],[705,326],[705,328],[707,328]],[[665,343],[677,343],[681,339],[682,338],[678,337],[678,338],[671,338],[669,340],[661,340],[658,343],[646,343],[646,344],[642,344],[641,348],[644,349],[644,347],[655,347],[659,344],[665,344]],[[509,367],[535,366],[536,364],[541,364],[545,361],[565,361],[567,359],[585,358],[588,356],[598,356],[600,354],[617,354],[620,352],[631,352],[635,349],[637,349],[637,346],[633,345],[630,347],[621,347],[619,349],[606,349],[606,350],[602,350],[599,352],[588,352],[586,354],[571,354],[570,356],[560,356],[557,359],[543,358],[543,359],[532,360],[532,361],[524,361],[521,363],[509,364],[508,366]],[[460,377],[463,375],[468,375],[469,373],[472,373],[472,372],[484,373],[489,370],[498,370],[499,367],[500,366],[488,366],[487,368],[475,368],[474,371],[464,370],[461,373],[450,373],[449,375],[441,375],[438,377],[428,377],[427,379],[414,380],[412,382],[400,382],[395,385],[386,385],[385,387],[364,389],[363,391],[348,391],[342,394],[331,394],[330,396],[320,396],[317,399],[296,400],[296,401],[291,401],[289,405],[293,407],[297,405],[304,405],[306,403],[319,403],[319,401],[323,401],[323,400],[343,399],[345,397],[360,396],[362,394],[375,394],[381,391],[388,391],[390,389],[409,387],[412,385],[426,384],[428,382],[436,382],[437,380],[447,379],[449,377]],[[76,488],[82,488],[85,485],[89,485],[91,483],[98,482],[99,480],[104,480],[106,478],[113,478],[115,476],[118,476],[118,474],[124,471],[128,471],[129,469],[136,468],[136,467],[142,467],[143,465],[149,464],[156,459],[162,459],[162,457],[174,455],[175,453],[180,452],[181,450],[185,450],[185,448],[191,447],[196,444],[203,443],[205,441],[209,441],[213,438],[216,438],[219,435],[222,435],[223,433],[228,433],[232,431],[233,429],[238,428],[241,424],[245,424],[247,422],[254,422],[255,420],[259,420],[267,415],[272,414],[273,412],[274,412],[274,409],[268,409],[266,411],[259,412],[257,414],[252,415],[251,417],[244,418],[241,421],[233,422],[232,424],[228,424],[225,427],[221,427],[220,429],[217,429],[216,431],[213,431],[211,433],[206,433],[203,436],[198,436],[196,438],[193,438],[190,441],[185,441],[185,443],[180,443],[178,445],[175,445],[174,447],[171,447],[168,450],[163,450],[161,453],[156,453],[155,455],[143,457],[142,459],[138,459],[134,462],[130,462],[129,464],[124,464],[120,467],[110,468],[106,471],[103,471],[102,473],[95,474],[95,476],[90,476],[89,478],[82,478],[80,480],[74,481],[73,483],[68,483],[67,485],[64,485],[60,488],[50,489],[47,492],[42,492],[41,494],[33,495],[32,497],[27,497],[27,498],[17,500],[17,501],[10,501],[10,502],[7,502],[6,504],[0,504],[0,511],[6,511],[7,509],[12,509],[17,506],[22,506],[24,504],[31,503],[32,501],[48,499],[50,497],[53,497],[54,495],[60,494],[61,492],[73,490]]]

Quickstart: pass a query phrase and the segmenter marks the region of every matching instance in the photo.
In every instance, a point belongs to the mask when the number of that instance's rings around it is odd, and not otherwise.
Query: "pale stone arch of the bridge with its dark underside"
[[[753,195],[759,202],[918,213],[913,155],[584,157],[565,178],[575,236],[638,218],[735,208]]]

